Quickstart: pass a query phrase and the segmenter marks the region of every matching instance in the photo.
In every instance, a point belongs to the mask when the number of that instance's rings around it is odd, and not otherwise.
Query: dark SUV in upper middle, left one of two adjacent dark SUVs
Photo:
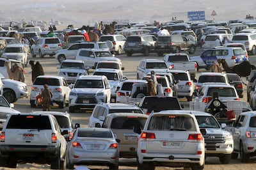
[[[131,35],[127,36],[124,43],[124,50],[127,56],[132,56],[134,53],[142,53],[148,56],[150,51],[154,51],[156,36],[154,35]]]

